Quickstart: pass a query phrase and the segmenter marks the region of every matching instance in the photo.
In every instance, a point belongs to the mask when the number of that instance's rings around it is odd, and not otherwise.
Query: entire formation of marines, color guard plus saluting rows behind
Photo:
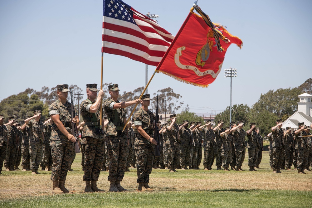
[[[256,128],[256,123],[250,123],[250,129],[245,132],[244,121],[231,122],[230,127],[225,128],[222,120],[215,127],[211,120],[205,121],[204,125],[200,121],[189,123],[184,120],[178,125],[176,115],[172,114],[162,126],[157,123],[161,148],[160,157],[155,157],[155,115],[148,109],[150,95],[120,102],[118,85],[109,85],[108,89],[110,99],[104,102],[102,109],[103,89],[98,90],[97,84],[86,85],[87,99],[80,104],[82,122],[75,107],[67,101],[68,85],[57,85],[58,99],[49,106],[51,118],[44,123],[40,121],[40,110],[35,110],[33,116],[27,116],[23,125],[14,117],[9,117],[8,123],[4,124],[4,117],[0,115],[0,174],[3,162],[6,171],[19,170],[22,162],[22,171],[31,171],[32,174],[40,174],[38,169],[41,165],[41,170],[51,171],[53,193],[73,193],[65,187],[65,181],[76,155],[74,143],[77,138],[71,128],[74,124],[81,133],[85,192],[104,192],[97,187],[101,171],[109,171],[109,191],[128,191],[121,186],[121,181],[129,167],[137,168],[137,190],[153,191],[149,187],[153,168],[168,169],[169,172],[200,169],[202,152],[204,170],[212,170],[215,160],[217,170],[243,171],[245,136],[248,138],[249,171],[260,168],[264,150],[260,129]],[[123,131],[125,108],[134,104],[141,104],[141,108]],[[273,172],[280,173],[285,167],[289,170],[292,165],[298,173],[305,173],[305,169],[310,171],[311,128],[299,123],[298,130],[292,134],[290,127],[282,130],[281,126],[282,120],[279,119],[268,135]]]

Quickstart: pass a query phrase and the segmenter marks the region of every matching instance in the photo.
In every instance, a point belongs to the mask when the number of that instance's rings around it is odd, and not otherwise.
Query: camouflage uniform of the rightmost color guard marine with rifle
[[[140,108],[134,114],[133,121],[135,126],[142,126],[142,129],[153,138],[155,115],[150,110],[145,111]],[[149,183],[149,174],[151,174],[153,169],[155,145],[138,133],[134,141],[134,151],[137,157],[137,183]]]

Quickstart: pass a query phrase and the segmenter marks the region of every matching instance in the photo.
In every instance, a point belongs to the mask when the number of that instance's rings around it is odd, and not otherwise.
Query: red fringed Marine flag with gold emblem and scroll
[[[200,15],[195,14],[194,9]],[[207,87],[221,71],[231,43],[242,46],[241,39],[232,36],[223,26],[212,23],[200,7],[194,5],[156,72],[191,85]]]

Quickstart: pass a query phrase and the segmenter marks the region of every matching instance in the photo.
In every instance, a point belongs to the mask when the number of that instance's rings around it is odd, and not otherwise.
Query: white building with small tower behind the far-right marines
[[[298,98],[298,111],[284,121],[282,128],[290,126],[292,130],[297,130],[298,123],[305,122],[306,126],[312,123],[312,95],[304,93],[298,95]]]

